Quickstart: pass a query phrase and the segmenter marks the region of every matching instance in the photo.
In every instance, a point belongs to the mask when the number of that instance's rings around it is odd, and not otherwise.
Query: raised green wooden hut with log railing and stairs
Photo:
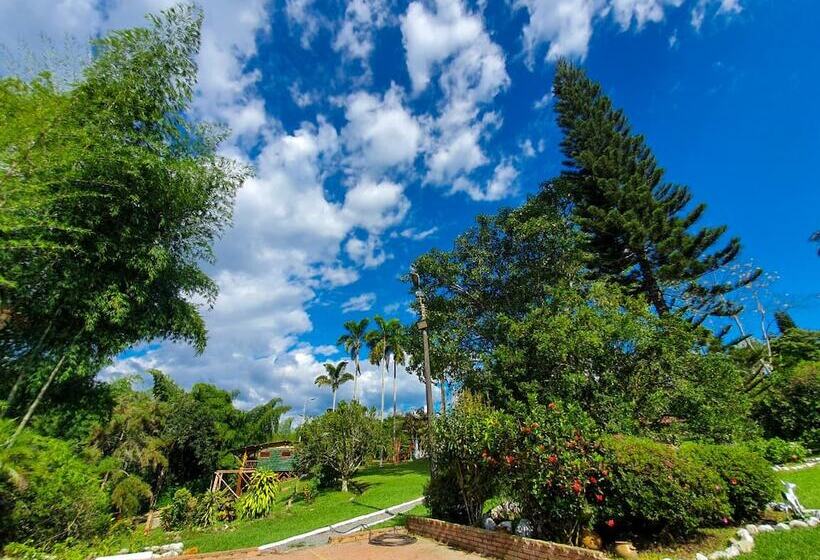
[[[239,468],[220,469],[214,472],[211,490],[227,489],[235,498],[238,498],[258,468],[273,471],[280,479],[293,476],[295,455],[293,443],[290,441],[248,445],[231,453],[236,457]]]

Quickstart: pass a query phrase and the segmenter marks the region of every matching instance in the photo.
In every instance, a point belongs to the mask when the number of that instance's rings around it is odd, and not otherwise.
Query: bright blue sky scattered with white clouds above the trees
[[[39,48],[141,22],[166,0],[12,0],[0,41]],[[281,396],[313,387],[348,319],[411,319],[397,277],[478,213],[520,204],[560,171],[550,82],[568,56],[646,135],[668,177],[776,279],[758,295],[820,328],[820,6],[810,0],[213,0],[195,113],[257,176],[212,269],[202,356],[152,343],[112,371]],[[754,316],[744,318],[752,324]],[[376,404],[379,377],[365,376]],[[350,388],[342,390],[347,398]],[[402,407],[423,402],[410,376]]]

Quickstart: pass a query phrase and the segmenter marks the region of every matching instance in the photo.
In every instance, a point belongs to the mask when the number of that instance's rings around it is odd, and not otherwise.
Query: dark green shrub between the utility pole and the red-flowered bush
[[[507,415],[469,393],[436,420],[433,476],[424,492],[433,517],[456,523],[479,521],[484,502],[499,489],[503,450],[512,425]]]

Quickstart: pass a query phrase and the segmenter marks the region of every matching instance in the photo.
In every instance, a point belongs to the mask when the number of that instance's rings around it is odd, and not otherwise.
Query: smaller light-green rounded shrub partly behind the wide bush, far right
[[[727,490],[734,523],[758,519],[777,493],[771,465],[746,447],[687,443],[681,453],[717,472]]]

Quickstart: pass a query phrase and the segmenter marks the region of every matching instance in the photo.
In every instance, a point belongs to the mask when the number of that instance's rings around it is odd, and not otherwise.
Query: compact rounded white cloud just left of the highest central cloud
[[[422,131],[402,104],[403,93],[395,84],[383,98],[357,92],[345,101],[348,120],[342,135],[351,152],[351,163],[368,172],[411,164],[418,153]]]

